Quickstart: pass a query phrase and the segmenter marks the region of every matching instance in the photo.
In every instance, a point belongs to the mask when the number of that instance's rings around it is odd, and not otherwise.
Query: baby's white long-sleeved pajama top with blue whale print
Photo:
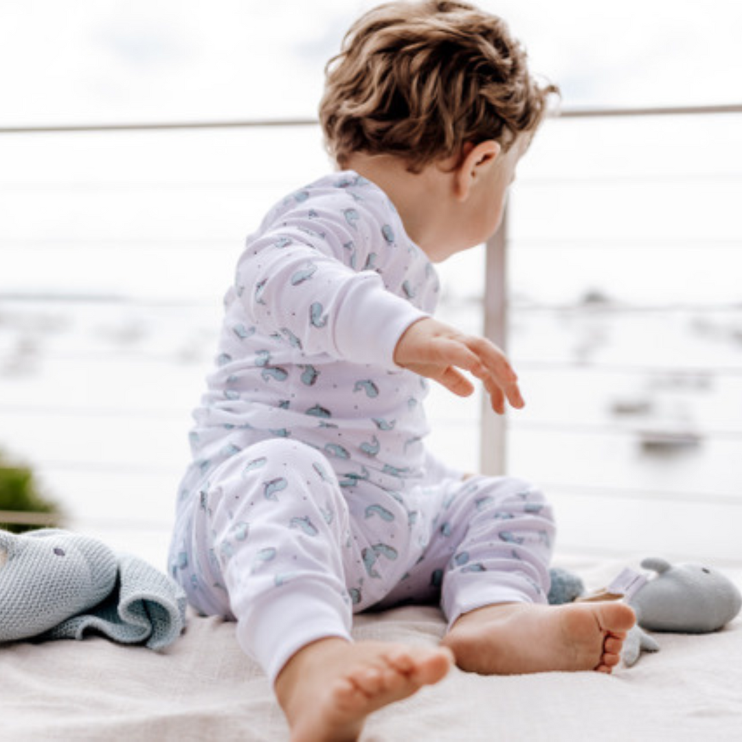
[[[433,264],[364,177],[331,174],[280,201],[248,238],[226,293],[181,499],[268,438],[321,450],[343,486],[404,490],[424,473],[453,474],[422,443],[427,382],[393,361],[438,295]]]

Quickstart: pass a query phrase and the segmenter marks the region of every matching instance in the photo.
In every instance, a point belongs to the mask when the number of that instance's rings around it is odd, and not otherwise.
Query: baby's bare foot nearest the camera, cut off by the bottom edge
[[[358,739],[366,717],[437,683],[450,669],[448,649],[323,639],[303,647],[276,680],[291,742]]]

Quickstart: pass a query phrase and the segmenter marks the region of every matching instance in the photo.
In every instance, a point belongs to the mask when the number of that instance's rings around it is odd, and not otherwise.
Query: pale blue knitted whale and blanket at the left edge
[[[148,562],[90,536],[0,530],[0,643],[102,634],[162,649],[185,627],[185,594]]]

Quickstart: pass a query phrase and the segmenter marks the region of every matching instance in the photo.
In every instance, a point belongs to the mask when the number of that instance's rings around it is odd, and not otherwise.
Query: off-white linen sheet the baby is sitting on
[[[571,559],[597,588],[638,560]],[[742,569],[725,569],[742,586]],[[356,617],[355,636],[434,645],[436,608]],[[363,742],[742,740],[742,617],[705,635],[654,634],[631,668],[481,677],[454,669],[439,685],[382,709]],[[165,651],[102,638],[0,646],[0,740],[276,742],[283,715],[234,625],[191,614]]]

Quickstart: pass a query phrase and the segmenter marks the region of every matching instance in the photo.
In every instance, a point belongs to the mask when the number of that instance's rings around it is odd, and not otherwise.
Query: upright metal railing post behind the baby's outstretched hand
[[[508,206],[500,228],[487,240],[485,257],[485,338],[507,351],[508,346]],[[482,474],[504,474],[506,455],[505,416],[496,415],[490,398],[482,394],[479,470]]]

